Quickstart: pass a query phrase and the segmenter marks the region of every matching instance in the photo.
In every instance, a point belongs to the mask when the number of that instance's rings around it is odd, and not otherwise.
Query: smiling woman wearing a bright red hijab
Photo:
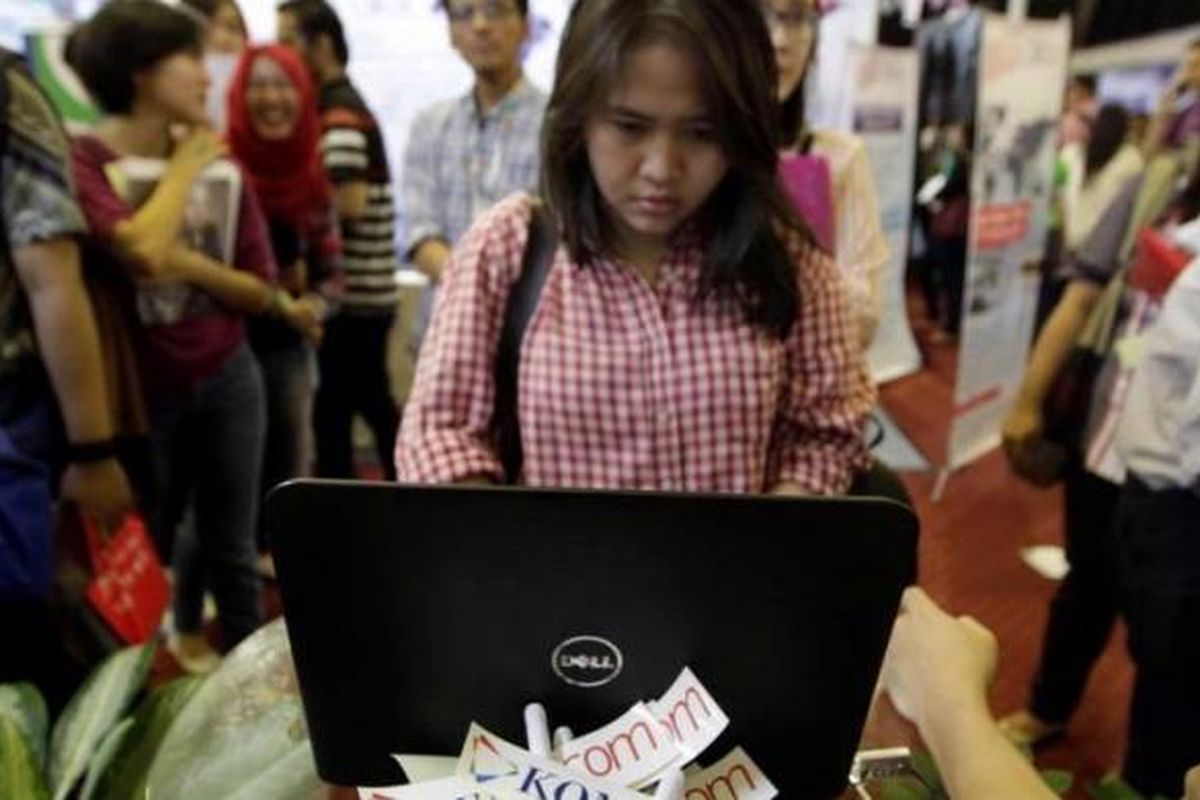
[[[229,149],[270,223],[280,283],[296,302],[326,303],[341,247],[320,158],[316,90],[292,50],[269,44],[242,55],[229,88]],[[265,491],[308,471],[317,366],[312,344],[272,320],[251,325],[250,341],[266,385]],[[259,549],[265,551],[262,535]]]

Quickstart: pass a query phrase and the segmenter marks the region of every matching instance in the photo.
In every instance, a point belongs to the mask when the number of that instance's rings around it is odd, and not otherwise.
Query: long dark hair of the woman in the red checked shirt
[[[730,164],[697,212],[707,236],[702,293],[734,297],[755,325],[787,335],[799,307],[784,236],[811,242],[776,182],[775,61],[756,2],[580,0],[558,52],[542,125],[542,197],[574,260],[612,249],[612,222],[588,162],[584,130],[636,48],[670,41],[695,54]]]

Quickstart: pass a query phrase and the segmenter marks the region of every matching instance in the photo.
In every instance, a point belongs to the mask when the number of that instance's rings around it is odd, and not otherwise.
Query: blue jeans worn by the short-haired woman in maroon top
[[[194,511],[192,535],[170,548],[175,628],[200,631],[210,589],[224,644],[233,648],[263,622],[254,529],[266,404],[250,347],[241,344],[191,395],[152,408],[151,416],[158,487],[151,519],[160,541],[173,542],[188,500]]]

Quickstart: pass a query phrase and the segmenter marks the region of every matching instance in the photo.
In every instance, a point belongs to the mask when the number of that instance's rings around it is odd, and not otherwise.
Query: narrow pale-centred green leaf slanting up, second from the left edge
[[[114,652],[67,703],[50,738],[54,800],[64,800],[84,776],[92,752],[145,685],[152,657],[154,643]]]

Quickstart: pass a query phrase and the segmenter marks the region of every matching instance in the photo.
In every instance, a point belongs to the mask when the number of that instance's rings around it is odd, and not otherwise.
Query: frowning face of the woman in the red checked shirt
[[[592,175],[620,255],[654,260],[728,170],[701,72],[666,42],[630,53],[584,128]]]

